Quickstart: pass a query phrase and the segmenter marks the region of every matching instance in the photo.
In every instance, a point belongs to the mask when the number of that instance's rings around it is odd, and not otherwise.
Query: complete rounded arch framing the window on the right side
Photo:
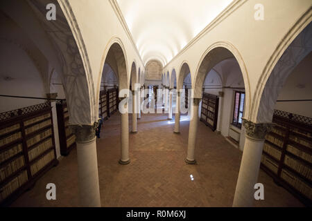
[[[245,111],[244,117],[249,116],[249,105],[250,105],[250,82],[248,78],[248,72],[245,67],[245,63],[239,51],[229,42],[219,41],[215,44],[212,44],[207,48],[205,53],[202,55],[198,68],[196,70],[196,75],[194,77],[193,84],[193,97],[201,98],[202,97],[202,85],[204,84],[205,78],[209,71],[225,59],[234,57],[239,63],[241,68],[241,73],[243,75],[243,81],[245,84]]]

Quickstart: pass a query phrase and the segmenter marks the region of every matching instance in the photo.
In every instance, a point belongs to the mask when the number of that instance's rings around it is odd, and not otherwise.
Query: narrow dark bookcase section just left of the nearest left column
[[[76,147],[76,136],[69,128],[69,112],[66,101],[56,102],[56,113],[58,115],[58,137],[60,140],[60,154],[69,155],[70,151]]]

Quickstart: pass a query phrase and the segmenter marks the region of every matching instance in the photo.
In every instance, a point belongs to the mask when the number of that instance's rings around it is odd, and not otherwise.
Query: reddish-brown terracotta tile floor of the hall
[[[175,135],[174,119],[166,119],[164,114],[142,115],[138,133],[130,134],[128,165],[118,164],[119,114],[105,122],[101,139],[96,141],[102,206],[232,206],[242,152],[200,122],[198,164],[188,165],[184,157],[189,121],[182,116],[181,134]],[[129,123],[131,128],[131,116]],[[46,200],[49,182],[56,184],[57,200]],[[259,182],[264,184],[265,200],[255,202],[255,206],[303,206],[263,171]],[[78,206],[76,150],[11,206]]]

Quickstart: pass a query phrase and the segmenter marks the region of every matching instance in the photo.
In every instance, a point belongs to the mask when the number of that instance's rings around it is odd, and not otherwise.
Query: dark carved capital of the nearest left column
[[[71,125],[70,128],[76,135],[76,142],[80,144],[92,142],[95,140],[96,128],[98,122],[94,122],[93,125]]]

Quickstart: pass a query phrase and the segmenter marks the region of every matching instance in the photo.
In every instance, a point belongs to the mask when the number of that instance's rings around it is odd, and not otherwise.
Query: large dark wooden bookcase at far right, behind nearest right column
[[[312,205],[312,118],[277,111],[275,128],[266,135],[261,169],[275,182]]]

